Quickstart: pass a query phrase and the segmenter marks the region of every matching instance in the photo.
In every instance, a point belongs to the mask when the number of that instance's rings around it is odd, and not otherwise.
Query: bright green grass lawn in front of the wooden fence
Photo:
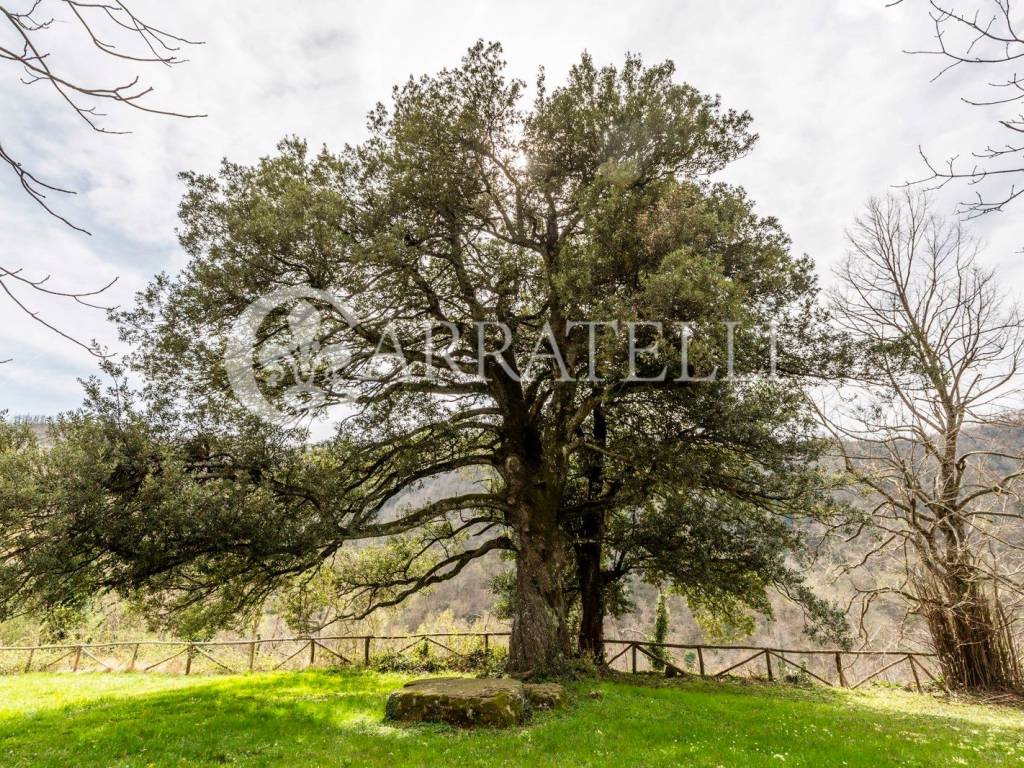
[[[569,710],[527,727],[460,731],[384,723],[407,679],[4,677],[0,766],[1024,765],[1024,713],[900,691],[581,683]]]

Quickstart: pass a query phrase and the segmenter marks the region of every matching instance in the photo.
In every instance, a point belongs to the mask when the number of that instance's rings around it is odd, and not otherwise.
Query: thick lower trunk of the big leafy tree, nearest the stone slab
[[[517,512],[516,589],[508,670],[520,677],[558,675],[569,660],[562,580],[568,543],[555,510]]]

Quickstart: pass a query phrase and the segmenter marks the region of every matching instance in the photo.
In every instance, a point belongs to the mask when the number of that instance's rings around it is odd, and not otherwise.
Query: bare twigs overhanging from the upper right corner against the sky
[[[891,3],[899,5],[903,0]],[[963,97],[972,106],[1006,105],[1020,109],[1024,103],[1024,77],[1017,68],[1024,61],[1024,37],[1020,26],[1024,18],[1015,11],[1012,0],[985,0],[980,8],[962,11],[945,0],[929,0],[930,16],[935,27],[934,48],[911,50],[908,53],[937,56],[941,69],[933,82],[943,75],[963,68],[979,71],[987,95]],[[1024,195],[1024,113],[1008,114],[998,124],[1011,132],[1005,144],[989,144],[971,153],[936,164],[921,150],[929,175],[911,183],[931,183],[935,187],[950,181],[963,181],[978,187],[973,198],[959,205],[959,213],[968,218],[1004,210]],[[984,190],[986,181],[1005,179],[1009,187],[1000,191]],[[990,186],[990,185],[988,185]]]

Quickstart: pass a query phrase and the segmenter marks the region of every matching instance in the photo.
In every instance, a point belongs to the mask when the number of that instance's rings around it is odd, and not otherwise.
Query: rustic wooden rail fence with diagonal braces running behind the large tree
[[[43,671],[203,674],[369,666],[379,654],[426,648],[438,656],[468,657],[507,643],[508,632],[346,635],[250,640],[137,640],[108,643],[0,646],[0,674]],[[756,645],[696,645],[605,640],[605,658],[621,672],[762,677],[858,688],[871,680],[938,683],[934,654],[919,651],[806,650]]]

